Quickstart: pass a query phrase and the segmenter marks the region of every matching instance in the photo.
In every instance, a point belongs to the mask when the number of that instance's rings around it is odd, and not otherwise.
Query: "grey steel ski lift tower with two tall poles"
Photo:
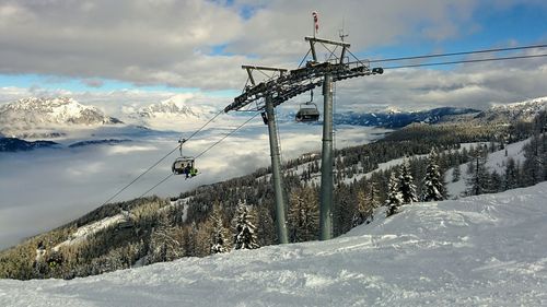
[[[279,141],[275,118],[275,107],[317,86],[323,86],[324,120],[323,120],[323,152],[321,168],[321,233],[319,239],[333,237],[333,83],[350,78],[381,74],[382,68],[370,69],[369,62],[356,57],[349,60],[347,54],[350,44],[317,37],[305,37],[310,43],[310,50],[304,56],[299,68],[287,70],[280,68],[243,66],[247,71],[247,84],[243,93],[224,108],[224,113],[261,111],[265,123],[268,125],[271,154],[271,172],[276,196],[276,217],[279,241],[288,243],[284,191],[282,190],[279,160]],[[327,52],[325,61],[317,58],[317,46],[323,46]],[[311,59],[307,57],[312,55]],[[352,56],[352,55],[351,55]],[[305,64],[303,64],[305,62]],[[257,83],[254,72],[260,72],[268,78]],[[268,74],[269,73],[269,74]]]

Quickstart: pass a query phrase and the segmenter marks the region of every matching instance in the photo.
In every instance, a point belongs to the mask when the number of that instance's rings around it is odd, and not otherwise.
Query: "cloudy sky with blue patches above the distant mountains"
[[[321,37],[344,26],[361,59],[547,43],[544,0],[0,0],[0,103],[186,93],[226,104],[245,83],[241,64],[298,67],[312,11]],[[348,109],[485,107],[547,95],[546,59],[392,70],[342,82],[337,95]]]

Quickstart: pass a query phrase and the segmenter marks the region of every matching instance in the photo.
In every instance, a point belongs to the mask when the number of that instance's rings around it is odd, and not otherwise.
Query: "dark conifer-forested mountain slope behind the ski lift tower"
[[[502,150],[507,143],[529,135],[533,135],[533,141],[525,150],[531,161],[523,163],[522,168],[512,170],[514,178],[498,174],[498,182],[505,184],[496,187],[489,184],[488,189],[480,192],[500,191],[510,186],[525,187],[545,180],[547,172],[544,168],[533,176],[527,172],[527,167],[537,166],[538,161],[546,158],[545,120],[545,113],[540,113],[533,122],[502,126],[411,125],[374,143],[338,150],[333,204],[335,236],[377,219],[373,212],[379,205],[391,205],[391,177],[397,179],[392,191],[396,194],[406,193],[392,212],[396,213],[405,203],[430,197],[430,184],[433,181],[437,180],[435,185],[443,184],[439,177],[434,177],[437,175],[428,175],[431,169],[444,174],[452,167],[474,163],[485,153]],[[462,143],[472,142],[480,142],[481,145],[461,146]],[[439,155],[428,157],[432,149]],[[376,169],[379,164],[405,156],[407,158],[403,166]],[[318,158],[310,154],[284,164],[286,192],[290,200],[288,226],[292,241],[315,238]],[[431,166],[433,160],[435,165]],[[525,164],[531,166],[525,168]],[[488,176],[494,177],[491,173]],[[256,248],[275,245],[278,240],[274,192],[269,180],[269,169],[261,168],[247,176],[181,193],[171,200],[149,197],[106,204],[0,253],[0,276],[72,279],[181,257],[203,257],[213,250],[228,251],[237,246]],[[400,181],[406,187],[404,190],[400,190]],[[493,181],[489,179],[489,182]],[[509,185],[509,181],[514,182]],[[437,187],[437,190],[442,188]],[[447,197],[442,192],[440,194],[443,199]],[[251,220],[245,223],[241,220],[242,203],[245,210],[252,212]],[[214,208],[218,211],[212,214]],[[113,216],[125,217],[120,217],[119,223],[101,222]],[[74,239],[79,229],[93,223],[100,223],[101,226],[95,227],[84,239]],[[244,244],[238,240],[243,237]],[[62,244],[66,241],[70,244]],[[219,244],[225,248],[219,247]]]

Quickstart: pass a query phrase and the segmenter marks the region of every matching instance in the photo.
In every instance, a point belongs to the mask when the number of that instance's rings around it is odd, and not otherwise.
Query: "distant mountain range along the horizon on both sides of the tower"
[[[124,114],[124,120],[155,130],[193,129],[214,113],[212,108],[190,107],[174,96]],[[474,123],[508,123],[529,121],[547,106],[547,97],[522,103],[500,105],[487,110],[441,107],[421,111],[386,110],[377,113],[338,113],[336,125],[369,126],[397,129],[412,122],[442,123],[473,121]],[[292,119],[291,119],[292,120]],[[25,98],[0,105],[0,138],[54,139],[68,134],[74,128],[95,128],[124,123],[105,115],[94,106],[85,106],[72,98]],[[194,125],[194,126],[193,126]],[[31,146],[32,147],[32,146]]]

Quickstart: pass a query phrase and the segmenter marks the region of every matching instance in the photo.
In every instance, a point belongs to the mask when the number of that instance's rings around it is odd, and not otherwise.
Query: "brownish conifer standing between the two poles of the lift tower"
[[[288,214],[291,241],[307,241],[317,237],[319,226],[317,193],[304,187],[294,190],[290,197]]]

